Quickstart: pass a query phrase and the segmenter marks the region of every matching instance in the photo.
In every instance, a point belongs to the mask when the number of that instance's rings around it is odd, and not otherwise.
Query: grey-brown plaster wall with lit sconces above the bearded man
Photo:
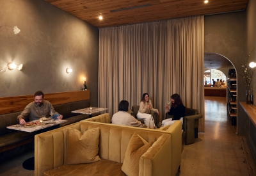
[[[83,77],[97,106],[99,30],[43,0],[0,0],[0,97],[81,90]],[[73,72],[67,74],[66,68]]]

